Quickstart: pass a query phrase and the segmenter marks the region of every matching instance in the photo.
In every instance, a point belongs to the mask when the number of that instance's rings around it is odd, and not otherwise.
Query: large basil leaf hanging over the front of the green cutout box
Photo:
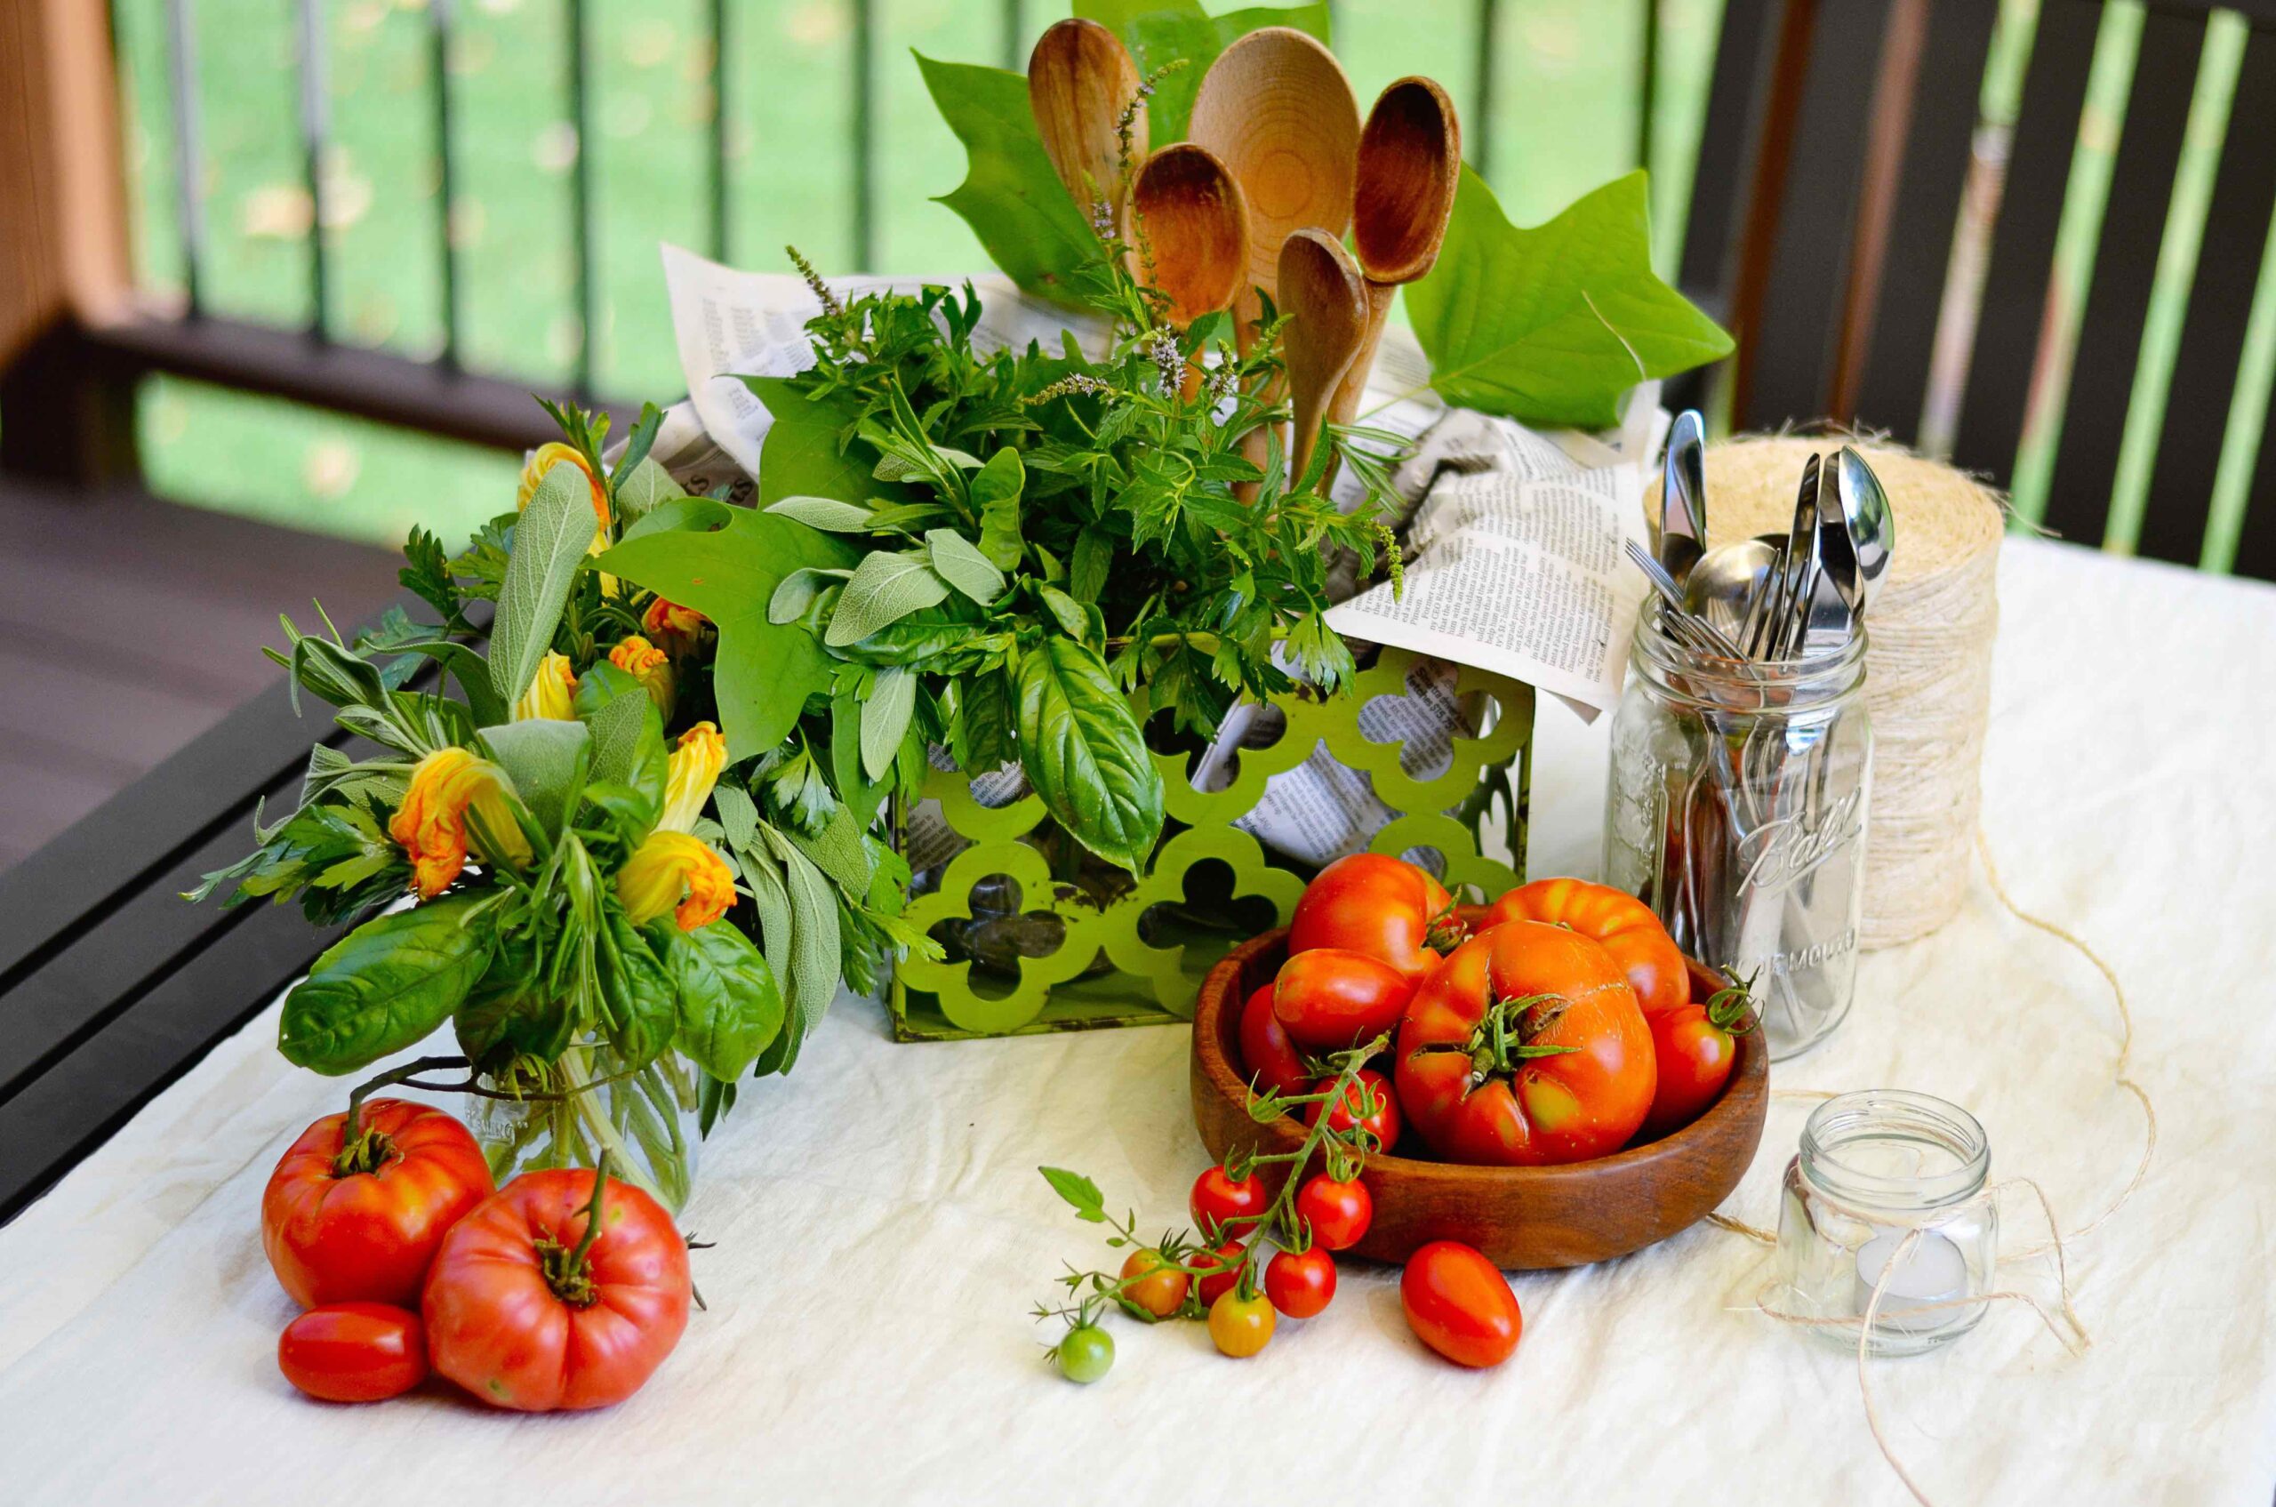
[[[1161,838],[1161,769],[1104,660],[1047,637],[1020,662],[1020,763],[1077,842],[1143,874]]]

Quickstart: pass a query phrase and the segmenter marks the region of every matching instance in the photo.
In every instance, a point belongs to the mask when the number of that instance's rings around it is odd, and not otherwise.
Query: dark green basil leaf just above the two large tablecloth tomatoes
[[[467,924],[471,895],[364,922],[323,949],[284,995],[278,1052],[339,1077],[426,1038],[489,965],[494,933]]]

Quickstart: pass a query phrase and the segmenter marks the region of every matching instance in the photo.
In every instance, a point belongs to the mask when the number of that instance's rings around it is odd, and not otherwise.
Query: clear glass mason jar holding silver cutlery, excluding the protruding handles
[[[1700,656],[1636,617],[1611,724],[1605,881],[1753,981],[1771,1061],[1848,1015],[1873,724],[1864,628],[1793,660]]]

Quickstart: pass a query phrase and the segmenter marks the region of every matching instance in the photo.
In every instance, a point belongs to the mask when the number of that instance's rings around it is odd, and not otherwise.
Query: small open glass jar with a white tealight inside
[[[1998,1257],[1989,1175],[1985,1127],[1957,1104],[1898,1088],[1819,1104],[1787,1163],[1778,1307],[1848,1320],[1809,1329],[1855,1348],[1873,1288],[1887,1279],[1873,1354],[1921,1354],[1966,1334],[1985,1314],[1969,1300],[1991,1291]]]

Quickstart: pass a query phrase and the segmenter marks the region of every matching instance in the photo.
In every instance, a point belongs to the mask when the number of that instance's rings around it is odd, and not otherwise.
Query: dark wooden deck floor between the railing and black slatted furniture
[[[0,540],[0,870],[282,678],[278,612],[398,596],[389,551],[143,494],[7,483]]]

